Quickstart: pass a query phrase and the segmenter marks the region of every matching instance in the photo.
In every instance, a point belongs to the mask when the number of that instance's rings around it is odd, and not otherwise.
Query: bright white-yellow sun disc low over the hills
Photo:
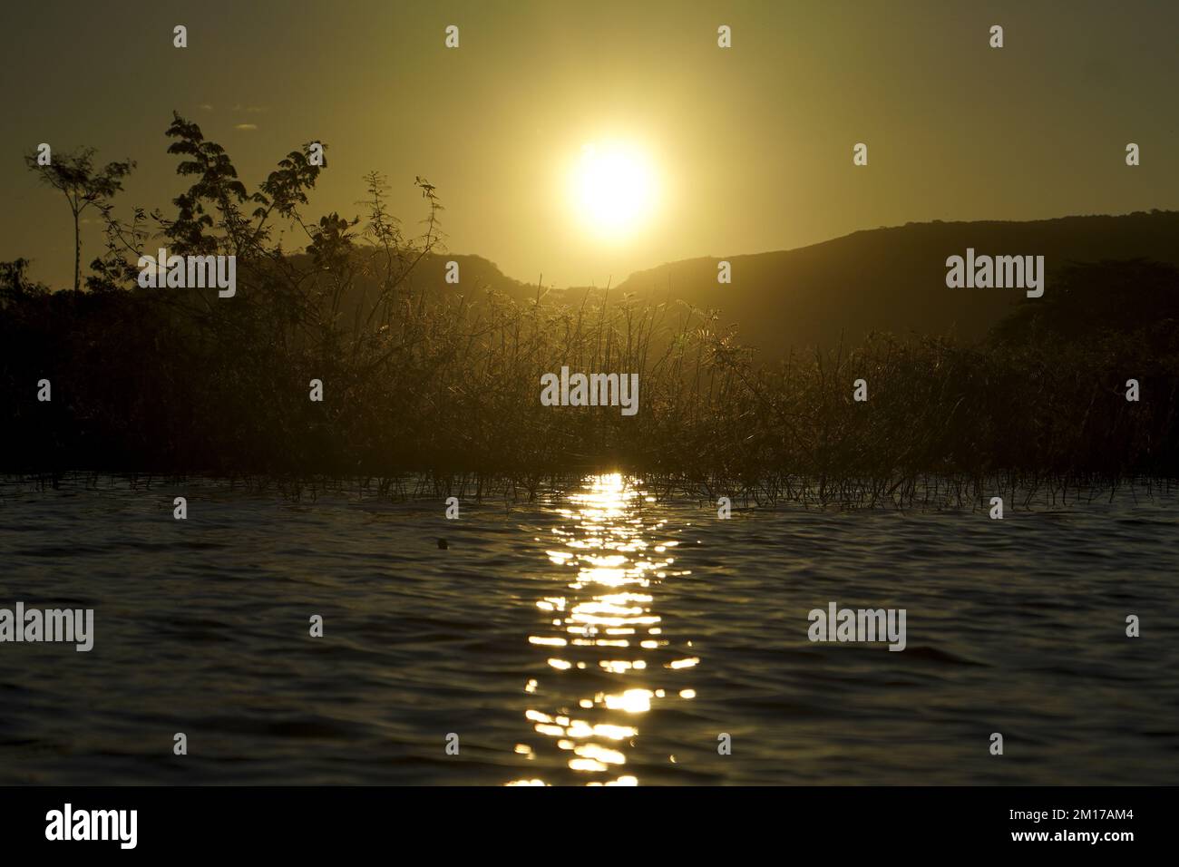
[[[650,221],[657,186],[654,166],[639,147],[604,142],[582,146],[569,191],[586,229],[602,239],[624,241]]]

